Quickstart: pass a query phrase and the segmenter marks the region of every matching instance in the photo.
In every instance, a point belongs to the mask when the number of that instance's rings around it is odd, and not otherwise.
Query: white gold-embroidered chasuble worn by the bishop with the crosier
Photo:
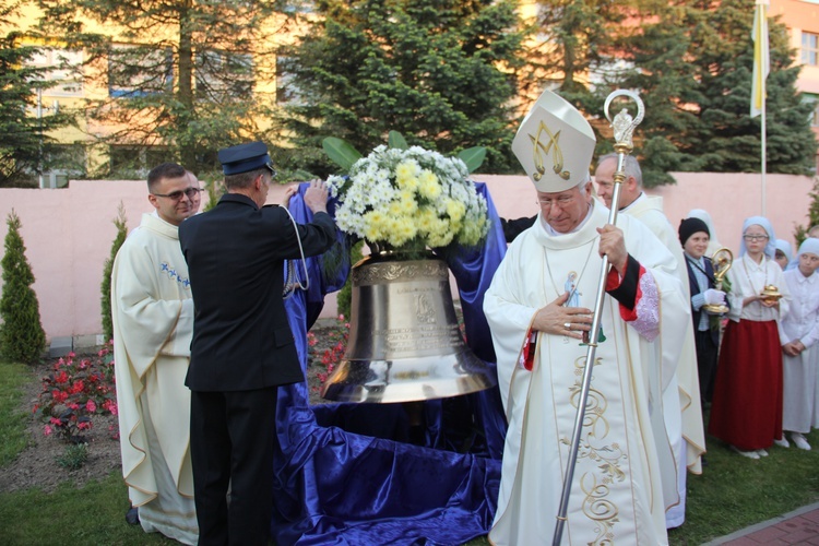
[[[602,264],[596,227],[607,216],[596,204],[578,232],[558,236],[536,222],[509,248],[486,293],[509,422],[492,544],[551,544],[587,347],[538,334],[533,370],[518,360],[534,314],[566,292],[567,280],[575,278],[578,305],[594,308]],[[690,322],[673,256],[633,218],[621,216],[618,226],[655,283],[653,295],[642,295],[643,304],[653,301],[648,314],[655,314],[661,332]],[[601,324],[605,341],[596,349],[562,544],[666,544],[669,501],[662,480],[676,484],[676,474],[662,412],[652,416],[662,404],[662,373],[646,361],[652,342],[620,317],[608,295]]]

